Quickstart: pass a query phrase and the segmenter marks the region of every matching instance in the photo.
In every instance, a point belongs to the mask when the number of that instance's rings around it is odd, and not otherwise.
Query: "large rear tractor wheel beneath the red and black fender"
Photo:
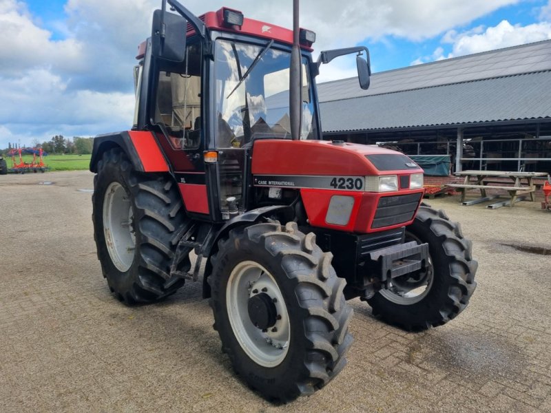
[[[170,178],[138,173],[121,149],[111,149],[98,162],[92,204],[98,259],[118,299],[152,302],[183,286],[184,279],[169,274],[190,222]],[[189,271],[187,253],[179,271]]]

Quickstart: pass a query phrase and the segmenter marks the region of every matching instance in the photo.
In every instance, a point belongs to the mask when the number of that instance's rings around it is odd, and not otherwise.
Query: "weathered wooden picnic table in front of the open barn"
[[[458,176],[464,176],[465,180],[463,184],[448,184],[449,187],[457,188],[461,191],[461,203],[466,204],[465,195],[469,189],[479,189],[481,198],[473,200],[468,204],[476,204],[484,200],[490,200],[495,197],[488,197],[486,195],[486,189],[496,189],[499,191],[507,191],[510,196],[510,207],[514,202],[517,202],[518,195],[528,194],[530,195],[530,201],[534,201],[534,191],[536,186],[533,179],[536,177],[545,177],[545,172],[506,172],[506,171],[461,171],[455,173]],[[493,178],[493,180],[492,180]],[[503,182],[496,180],[497,178],[510,178],[511,182]],[[499,185],[496,185],[499,184]]]

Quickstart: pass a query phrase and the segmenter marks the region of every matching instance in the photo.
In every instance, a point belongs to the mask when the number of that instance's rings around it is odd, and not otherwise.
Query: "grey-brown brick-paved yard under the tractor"
[[[233,374],[200,282],[149,306],[112,297],[96,258],[92,178],[0,176],[2,412],[551,412],[551,255],[504,245],[551,248],[539,202],[430,200],[474,243],[470,306],[408,333],[350,301],[349,365],[277,406]]]

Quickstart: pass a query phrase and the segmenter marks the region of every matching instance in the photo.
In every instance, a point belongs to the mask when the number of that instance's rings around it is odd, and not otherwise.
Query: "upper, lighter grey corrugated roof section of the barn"
[[[551,40],[375,73],[368,90],[357,78],[320,83],[318,94],[329,102],[544,70],[551,70]]]

